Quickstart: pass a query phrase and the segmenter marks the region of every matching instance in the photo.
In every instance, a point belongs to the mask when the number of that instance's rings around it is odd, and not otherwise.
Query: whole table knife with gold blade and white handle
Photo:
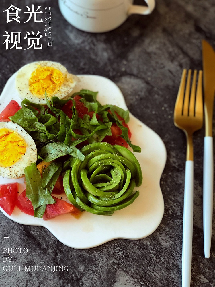
[[[205,40],[202,41],[205,137],[203,156],[203,233],[204,255],[210,257],[213,216],[213,110],[215,92],[215,52]]]

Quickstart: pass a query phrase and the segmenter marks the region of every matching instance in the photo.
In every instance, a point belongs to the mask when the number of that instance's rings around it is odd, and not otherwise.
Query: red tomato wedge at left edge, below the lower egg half
[[[18,183],[0,185],[0,206],[7,214],[11,215],[16,205]]]

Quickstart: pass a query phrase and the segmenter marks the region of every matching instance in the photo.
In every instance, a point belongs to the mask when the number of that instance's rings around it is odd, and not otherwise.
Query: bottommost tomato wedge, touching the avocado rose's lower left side
[[[81,211],[78,208],[76,208],[74,205],[62,199],[58,199],[54,196],[52,197],[54,198],[56,203],[46,205],[46,210],[43,215],[44,220],[53,218],[61,214],[66,214],[66,213],[71,213],[72,215],[75,215],[75,216],[81,213]]]

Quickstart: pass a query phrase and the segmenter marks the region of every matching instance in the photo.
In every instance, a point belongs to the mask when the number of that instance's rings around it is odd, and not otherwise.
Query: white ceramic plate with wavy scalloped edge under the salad
[[[97,99],[101,104],[115,104],[127,110],[122,92],[109,79],[96,75],[79,75],[79,79],[74,92],[82,88],[98,91]],[[15,74],[8,80],[0,96],[1,110],[11,99],[21,103],[15,89]],[[130,206],[114,212],[112,216],[83,212],[79,219],[65,214],[44,221],[24,214],[17,207],[11,216],[1,209],[3,214],[21,224],[44,226],[63,244],[77,249],[95,247],[116,238],[141,239],[152,234],[164,213],[160,178],[166,163],[166,149],[161,138],[131,114],[129,127],[132,143],[142,148],[142,152],[135,155],[143,174],[143,184],[138,188],[140,195]],[[0,177],[0,183],[10,181]],[[19,182],[22,183],[22,191],[23,179],[19,179]]]

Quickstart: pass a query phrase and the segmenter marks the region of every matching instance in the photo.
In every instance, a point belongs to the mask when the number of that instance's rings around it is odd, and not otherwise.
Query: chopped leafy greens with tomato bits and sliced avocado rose
[[[38,160],[25,168],[35,217],[55,204],[51,194],[59,176],[69,201],[93,214],[112,215],[138,197],[134,189],[142,184],[142,171],[133,152],[141,149],[130,141],[129,112],[101,105],[96,95],[81,90],[64,100],[46,98],[46,106],[24,99],[9,117],[36,144]]]

